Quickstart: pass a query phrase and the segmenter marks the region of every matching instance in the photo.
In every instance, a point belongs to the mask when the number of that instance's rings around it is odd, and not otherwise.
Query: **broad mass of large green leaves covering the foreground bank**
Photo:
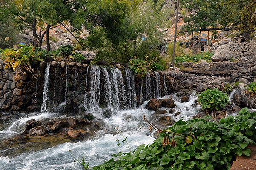
[[[246,147],[256,144],[255,119],[255,112],[243,108],[219,123],[209,117],[180,120],[163,130],[154,143],[112,155],[92,170],[229,170],[235,155],[250,156]]]

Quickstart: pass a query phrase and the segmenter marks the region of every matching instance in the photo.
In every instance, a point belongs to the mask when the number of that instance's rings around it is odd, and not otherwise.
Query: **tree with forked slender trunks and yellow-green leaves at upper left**
[[[4,0],[10,16],[15,16],[15,23],[20,29],[33,31],[33,45],[41,47],[44,36],[47,51],[50,50],[49,30],[67,20],[72,12],[67,0]],[[37,33],[40,29],[39,34]]]

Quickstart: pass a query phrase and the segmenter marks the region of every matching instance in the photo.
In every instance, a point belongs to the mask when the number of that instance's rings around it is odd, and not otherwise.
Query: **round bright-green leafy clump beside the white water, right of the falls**
[[[222,91],[218,91],[217,88],[213,90],[207,89],[202,92],[198,96],[198,101],[201,103],[203,109],[209,111],[212,111],[213,109],[220,111],[221,109],[225,108],[228,103],[230,103],[227,94],[223,93]]]

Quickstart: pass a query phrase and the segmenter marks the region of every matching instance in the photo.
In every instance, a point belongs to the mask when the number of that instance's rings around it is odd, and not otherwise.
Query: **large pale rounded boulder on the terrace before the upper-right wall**
[[[215,54],[211,57],[213,62],[228,61],[232,57],[232,52],[226,45],[219,46]]]

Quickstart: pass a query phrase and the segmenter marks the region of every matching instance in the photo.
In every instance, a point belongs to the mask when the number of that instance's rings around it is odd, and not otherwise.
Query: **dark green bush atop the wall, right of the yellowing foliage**
[[[72,45],[62,45],[57,50],[52,51],[51,55],[56,61],[73,61],[81,62],[82,59],[86,59],[83,55],[76,53]]]

